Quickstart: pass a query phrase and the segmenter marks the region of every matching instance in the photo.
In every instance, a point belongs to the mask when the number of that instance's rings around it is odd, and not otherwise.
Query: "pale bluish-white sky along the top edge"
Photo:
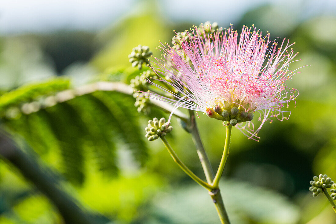
[[[0,34],[48,32],[59,29],[97,31],[141,10],[136,0],[0,0]],[[172,22],[235,22],[249,9],[276,4],[293,20],[333,14],[334,0],[158,0]]]

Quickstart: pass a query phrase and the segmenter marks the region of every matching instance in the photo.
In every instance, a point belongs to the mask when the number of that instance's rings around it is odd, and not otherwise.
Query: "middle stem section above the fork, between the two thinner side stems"
[[[205,152],[204,146],[202,144],[200,134],[198,132],[198,128],[197,128],[197,124],[195,120],[195,114],[193,110],[188,110],[188,111],[189,111],[190,125],[191,125],[189,127],[190,133],[192,135],[192,139],[196,146],[196,151],[197,151],[198,157],[200,158],[201,165],[204,170],[205,178],[207,179],[208,183],[212,183],[215,175],[213,173],[212,166],[207,156],[207,153]]]

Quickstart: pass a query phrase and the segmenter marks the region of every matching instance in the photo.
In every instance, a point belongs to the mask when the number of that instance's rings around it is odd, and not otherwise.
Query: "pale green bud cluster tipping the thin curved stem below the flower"
[[[153,120],[148,121],[148,125],[145,128],[146,138],[149,141],[154,141],[160,136],[164,137],[167,133],[171,132],[173,127],[170,126],[170,122],[166,122],[166,119],[163,117],[160,120],[156,117]]]

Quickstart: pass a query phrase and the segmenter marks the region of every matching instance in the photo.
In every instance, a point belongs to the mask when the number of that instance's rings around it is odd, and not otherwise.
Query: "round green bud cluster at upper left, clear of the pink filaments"
[[[142,46],[139,44],[134,47],[132,52],[128,55],[129,62],[132,63],[132,67],[138,66],[138,69],[142,68],[142,64],[149,64],[149,57],[153,55],[153,52],[149,50],[149,46]]]

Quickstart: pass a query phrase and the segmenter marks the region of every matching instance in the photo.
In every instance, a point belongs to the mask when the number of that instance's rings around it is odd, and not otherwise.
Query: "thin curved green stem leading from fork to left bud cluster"
[[[208,191],[213,190],[212,186],[206,182],[204,182],[201,178],[199,178],[198,176],[196,176],[191,170],[189,170],[189,168],[184,165],[184,163],[178,158],[178,156],[176,155],[176,153],[174,152],[174,150],[171,148],[171,146],[169,145],[169,143],[167,142],[165,137],[160,137],[163,144],[166,146],[169,154],[171,155],[171,157],[173,158],[173,160],[177,163],[177,165],[179,167],[181,167],[181,169],[188,175],[190,176],[194,181],[196,181],[196,183],[198,183],[199,185],[201,185],[202,187],[206,188]]]

